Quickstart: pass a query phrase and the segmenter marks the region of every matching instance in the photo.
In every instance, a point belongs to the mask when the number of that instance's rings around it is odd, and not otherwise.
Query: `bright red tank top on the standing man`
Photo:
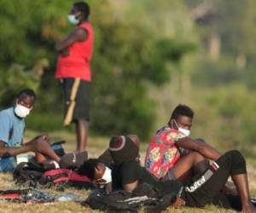
[[[59,55],[55,78],[81,78],[91,81],[90,59],[93,50],[93,29],[90,23],[85,22],[79,27],[83,27],[88,33],[84,42],[75,42],[69,47],[69,55],[62,57]]]

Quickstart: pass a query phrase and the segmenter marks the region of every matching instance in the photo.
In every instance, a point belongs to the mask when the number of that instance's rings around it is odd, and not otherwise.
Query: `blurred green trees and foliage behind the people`
[[[0,1],[0,107],[31,87],[27,127],[62,130],[55,43],[74,1]],[[220,148],[253,147],[256,131],[253,0],[88,1],[95,29],[90,134],[148,140],[173,107],[195,110],[193,136]]]

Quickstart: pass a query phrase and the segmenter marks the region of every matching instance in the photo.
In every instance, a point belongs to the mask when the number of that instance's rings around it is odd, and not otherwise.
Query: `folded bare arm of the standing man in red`
[[[82,27],[75,27],[69,35],[61,40],[60,42],[56,43],[55,49],[58,52],[61,52],[65,49],[68,49],[73,43],[75,42],[84,42],[88,37],[88,33]]]

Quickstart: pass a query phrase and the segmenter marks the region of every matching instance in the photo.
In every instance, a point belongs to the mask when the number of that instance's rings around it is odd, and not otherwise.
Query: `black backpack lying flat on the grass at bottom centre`
[[[137,212],[141,208],[147,212],[160,212],[166,210],[175,199],[170,193],[163,194],[153,186],[142,183],[132,193],[123,190],[106,193],[96,189],[82,204],[93,210],[107,212]]]

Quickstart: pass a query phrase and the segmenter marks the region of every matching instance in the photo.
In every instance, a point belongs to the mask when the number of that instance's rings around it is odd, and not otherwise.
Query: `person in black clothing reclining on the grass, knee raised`
[[[233,150],[224,153],[206,171],[183,184],[178,180],[160,181],[149,174],[137,162],[138,146],[128,136],[113,137],[109,142],[109,153],[114,162],[113,189],[132,192],[139,184],[147,182],[160,191],[175,192],[177,200],[174,207],[181,205],[203,207],[206,204],[218,204],[224,208],[233,208],[242,210],[242,212],[256,212],[250,199],[246,162],[239,151]],[[80,168],[80,172],[95,179],[96,176],[100,176],[99,170],[95,169],[97,164],[101,164],[98,159],[95,159],[94,162],[85,162]],[[236,185],[239,197],[228,197],[222,193],[229,176],[232,177]]]

